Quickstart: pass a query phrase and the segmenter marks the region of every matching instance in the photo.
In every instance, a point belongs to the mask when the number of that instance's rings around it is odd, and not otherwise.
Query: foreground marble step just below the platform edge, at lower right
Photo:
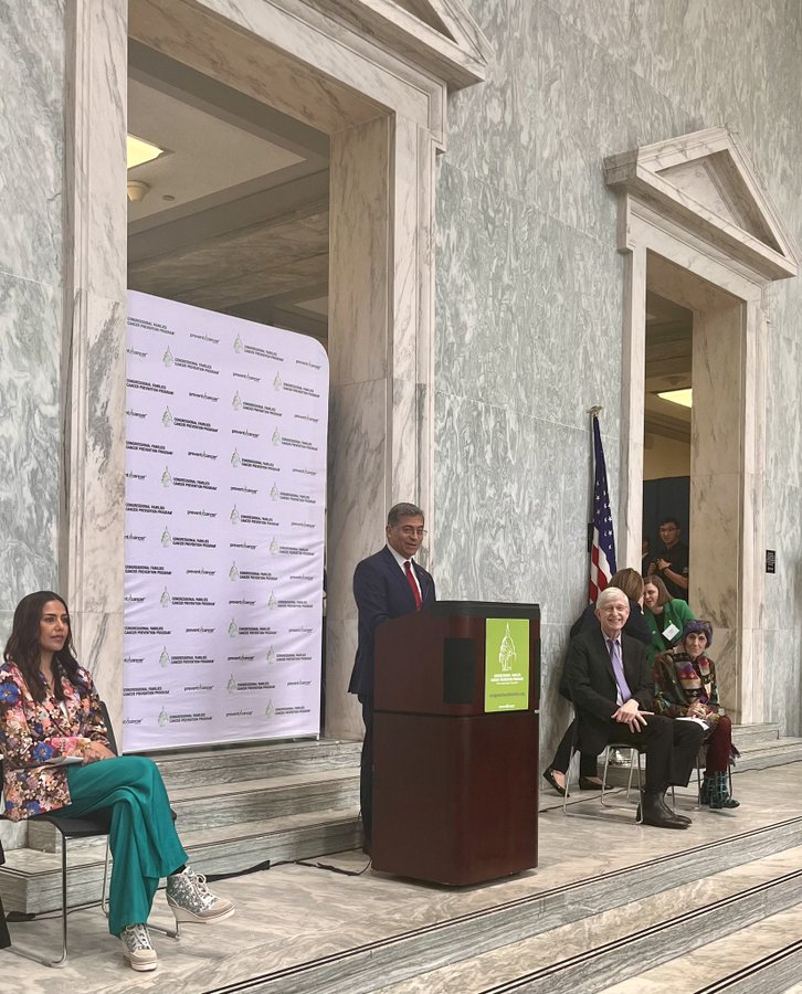
[[[632,893],[640,891],[633,889]],[[710,942],[800,900],[802,846],[720,873],[708,869],[701,879],[611,910],[589,908],[581,922],[560,924],[469,955],[455,965],[373,990],[382,994],[592,994],[609,987],[611,981],[634,977],[644,966],[673,961],[693,950],[697,951],[697,967],[704,966]],[[703,977],[697,969],[697,986],[690,990],[698,991]]]

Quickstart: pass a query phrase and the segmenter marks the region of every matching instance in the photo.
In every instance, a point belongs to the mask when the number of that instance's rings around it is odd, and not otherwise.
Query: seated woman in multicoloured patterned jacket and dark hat
[[[738,807],[729,793],[727,774],[732,745],[732,722],[720,712],[716,665],[707,656],[713,643],[713,625],[687,621],[682,642],[654,663],[654,710],[668,718],[693,719],[707,728],[707,766],[699,801],[713,808]]]

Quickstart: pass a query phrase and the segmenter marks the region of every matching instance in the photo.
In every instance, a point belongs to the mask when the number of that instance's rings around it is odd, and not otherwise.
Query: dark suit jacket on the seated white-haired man
[[[654,680],[646,647],[621,634],[624,676],[644,711],[654,710]],[[579,748],[599,754],[610,739],[610,719],[618,710],[615,676],[601,626],[580,632],[566,656],[566,680],[579,718]]]

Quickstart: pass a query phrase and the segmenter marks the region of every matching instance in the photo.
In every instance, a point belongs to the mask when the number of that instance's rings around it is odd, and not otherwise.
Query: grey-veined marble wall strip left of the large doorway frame
[[[32,0],[0,6],[0,638],[4,643],[20,598],[57,582],[63,4]],[[21,120],[27,123],[22,128]]]

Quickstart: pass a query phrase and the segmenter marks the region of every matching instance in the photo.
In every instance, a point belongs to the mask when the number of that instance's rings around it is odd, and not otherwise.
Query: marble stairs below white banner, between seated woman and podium
[[[357,846],[359,742],[281,742],[154,755],[190,859],[209,876],[241,873]],[[70,905],[97,900],[105,842],[70,845]],[[28,826],[28,846],[7,853],[0,893],[7,910],[61,907],[55,829]]]

